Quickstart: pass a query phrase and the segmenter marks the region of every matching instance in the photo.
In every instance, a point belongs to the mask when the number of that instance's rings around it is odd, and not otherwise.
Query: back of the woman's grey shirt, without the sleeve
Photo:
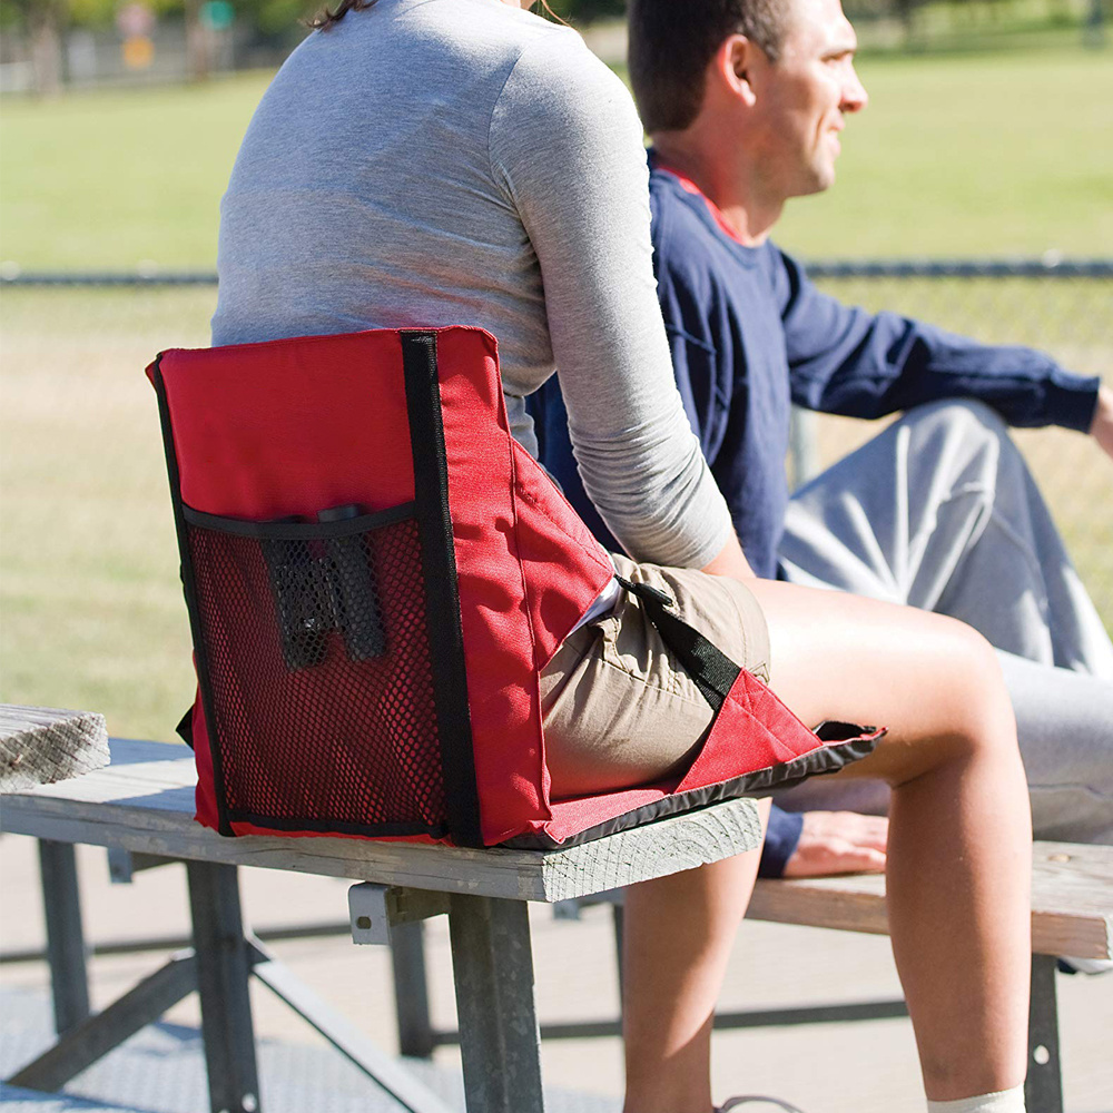
[[[466,323],[526,378],[551,371],[540,274],[489,149],[506,79],[540,39],[587,56],[490,0],[380,0],[309,36],[263,98],[221,206],[214,343]]]

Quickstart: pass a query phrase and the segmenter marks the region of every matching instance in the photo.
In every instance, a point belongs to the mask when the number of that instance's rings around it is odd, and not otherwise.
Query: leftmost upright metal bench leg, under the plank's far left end
[[[89,975],[85,966],[81,894],[72,844],[39,839],[39,874],[47,919],[55,1031],[63,1035],[89,1018]]]

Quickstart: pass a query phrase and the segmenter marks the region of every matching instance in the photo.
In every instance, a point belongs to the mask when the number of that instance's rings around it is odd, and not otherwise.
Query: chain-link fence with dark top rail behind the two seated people
[[[1113,382],[1113,260],[828,263],[811,274],[843,301],[1040,347]],[[160,349],[208,343],[214,279],[3,278],[3,698],[92,708],[115,733],[169,739],[191,690],[189,632],[142,368]],[[877,430],[820,417],[817,464]],[[1113,627],[1113,463],[1064,430],[1016,439]]]

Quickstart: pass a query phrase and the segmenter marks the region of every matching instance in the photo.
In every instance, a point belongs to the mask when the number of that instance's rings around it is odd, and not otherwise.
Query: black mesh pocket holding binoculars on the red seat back
[[[416,524],[294,541],[188,530],[229,817],[443,826]]]

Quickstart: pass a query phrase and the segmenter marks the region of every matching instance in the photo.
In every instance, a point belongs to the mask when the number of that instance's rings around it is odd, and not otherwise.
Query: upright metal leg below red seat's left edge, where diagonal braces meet
[[[247,979],[252,969],[235,866],[187,861],[201,1034],[211,1113],[258,1113],[259,1080]]]

